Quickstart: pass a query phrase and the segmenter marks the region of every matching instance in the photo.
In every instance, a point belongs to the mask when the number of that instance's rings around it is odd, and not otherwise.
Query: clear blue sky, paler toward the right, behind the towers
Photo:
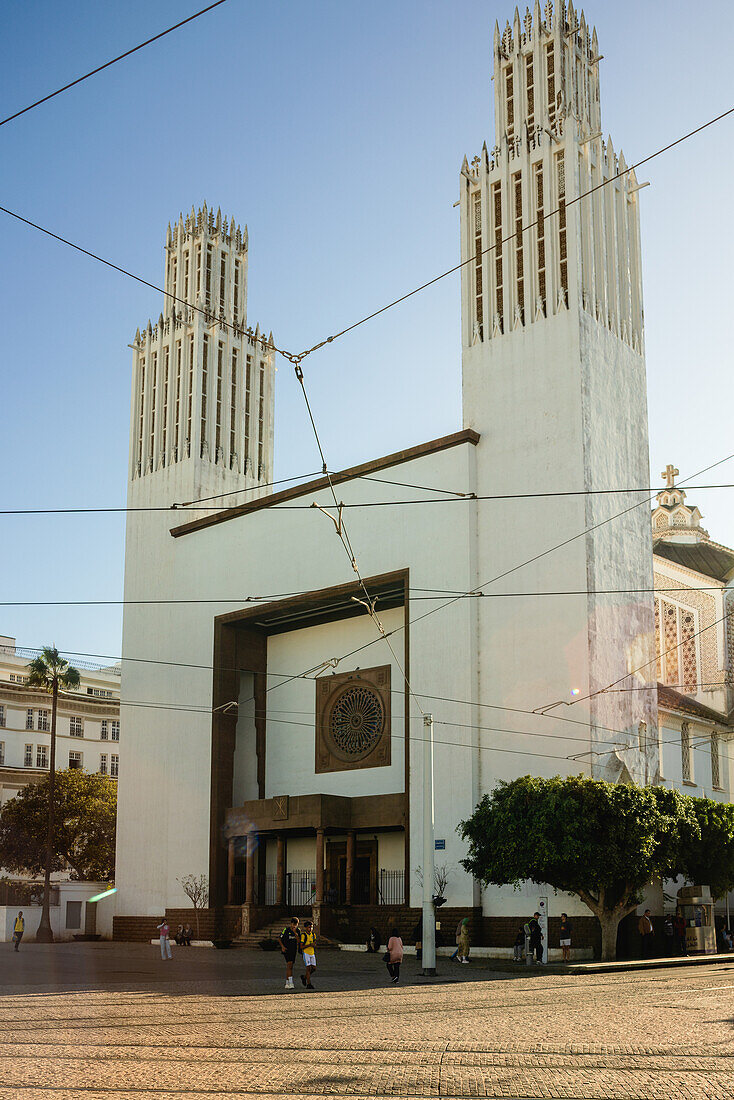
[[[196,0],[6,0],[4,118]],[[249,320],[303,350],[459,258],[459,169],[494,143],[494,0],[228,0],[0,130],[0,205],[152,283],[204,200],[250,230]],[[734,105],[724,2],[591,2],[602,121],[627,163]],[[640,168],[650,471],[734,451],[734,116]],[[0,213],[0,508],[122,507],[131,342],[154,290]],[[307,361],[331,469],[461,427],[459,276]],[[288,365],[275,476],[318,454]],[[734,482],[734,461],[704,481]],[[528,485],[528,491],[532,490]],[[559,486],[562,490],[565,486]],[[689,495],[734,546],[734,491]],[[0,634],[117,657],[122,515],[1,516]],[[522,549],[518,548],[518,556]]]

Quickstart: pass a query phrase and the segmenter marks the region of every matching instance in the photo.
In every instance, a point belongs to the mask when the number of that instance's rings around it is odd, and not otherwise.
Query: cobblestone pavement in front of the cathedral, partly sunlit
[[[734,960],[570,976],[324,952],[0,944],[0,1100],[734,1098]]]

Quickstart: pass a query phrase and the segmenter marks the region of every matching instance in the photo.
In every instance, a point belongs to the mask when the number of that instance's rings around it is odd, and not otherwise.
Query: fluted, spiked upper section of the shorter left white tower
[[[195,498],[272,481],[274,351],[272,333],[248,327],[247,226],[206,204],[179,217],[165,290],[133,344],[131,486],[152,476]],[[156,477],[171,466],[178,476]]]

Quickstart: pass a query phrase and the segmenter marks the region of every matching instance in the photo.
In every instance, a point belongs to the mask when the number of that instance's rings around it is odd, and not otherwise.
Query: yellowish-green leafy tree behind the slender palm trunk
[[[47,859],[51,776],[29,783],[0,810],[0,867],[40,875],[72,868],[73,878],[114,877],[117,785],[77,768],[56,773],[54,829]]]

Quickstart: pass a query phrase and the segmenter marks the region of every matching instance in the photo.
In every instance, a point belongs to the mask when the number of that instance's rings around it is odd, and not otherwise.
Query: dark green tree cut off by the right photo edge
[[[689,799],[698,828],[686,835],[680,873],[691,883],[711,887],[713,898],[734,890],[734,805],[713,799]]]

